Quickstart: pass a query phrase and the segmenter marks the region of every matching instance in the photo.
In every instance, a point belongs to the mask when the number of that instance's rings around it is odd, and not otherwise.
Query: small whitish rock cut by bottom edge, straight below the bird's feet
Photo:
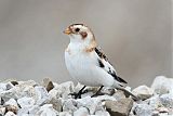
[[[74,112],[74,116],[88,116],[89,111],[85,107],[79,107],[77,111]]]

